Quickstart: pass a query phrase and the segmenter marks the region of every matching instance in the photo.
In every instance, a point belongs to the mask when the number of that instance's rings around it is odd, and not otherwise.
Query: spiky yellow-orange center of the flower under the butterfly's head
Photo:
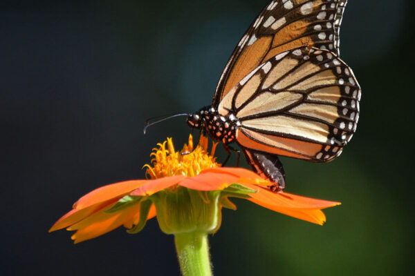
[[[167,145],[167,148],[166,148]],[[145,164],[146,175],[151,179],[170,177],[172,175],[186,175],[193,177],[202,170],[221,166],[216,163],[214,151],[217,143],[213,143],[212,150],[208,152],[208,137],[201,136],[199,144],[193,148],[193,138],[189,135],[189,144],[183,146],[183,150],[174,150],[172,138],[157,144],[153,148],[150,157],[151,164]]]

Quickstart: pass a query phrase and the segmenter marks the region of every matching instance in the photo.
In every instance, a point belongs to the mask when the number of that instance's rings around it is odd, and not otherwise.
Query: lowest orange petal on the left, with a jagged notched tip
[[[140,213],[140,204],[135,204],[115,213],[105,213],[107,209],[104,208],[68,228],[68,230],[77,230],[71,237],[75,240],[75,244],[104,235],[118,228],[137,213]]]

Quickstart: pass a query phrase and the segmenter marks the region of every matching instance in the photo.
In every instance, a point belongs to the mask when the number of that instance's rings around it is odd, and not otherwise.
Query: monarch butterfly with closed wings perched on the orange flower
[[[275,192],[285,187],[278,155],[331,161],[356,130],[360,87],[338,58],[346,3],[271,1],[234,49],[212,105],[187,117],[228,155],[236,142]]]

